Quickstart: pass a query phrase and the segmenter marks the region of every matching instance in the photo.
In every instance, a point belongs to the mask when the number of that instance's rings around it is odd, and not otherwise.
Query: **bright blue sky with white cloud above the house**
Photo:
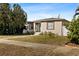
[[[72,20],[77,3],[19,3],[27,13],[27,20],[39,20],[44,18],[60,18]]]

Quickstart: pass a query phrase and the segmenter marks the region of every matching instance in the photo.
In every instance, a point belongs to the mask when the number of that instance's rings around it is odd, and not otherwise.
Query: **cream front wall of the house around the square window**
[[[47,22],[41,22],[41,32],[52,32],[58,35],[62,35],[62,21],[54,21],[54,30],[48,30]]]

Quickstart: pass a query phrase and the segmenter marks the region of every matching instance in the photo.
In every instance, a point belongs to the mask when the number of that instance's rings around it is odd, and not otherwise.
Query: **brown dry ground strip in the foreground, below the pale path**
[[[0,56],[77,56],[79,49],[56,46],[51,48],[26,48],[0,44]]]

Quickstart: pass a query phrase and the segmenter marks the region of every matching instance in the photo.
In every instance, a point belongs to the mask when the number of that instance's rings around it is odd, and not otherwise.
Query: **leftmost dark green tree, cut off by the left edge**
[[[0,34],[9,33],[10,21],[10,5],[8,3],[0,4]]]

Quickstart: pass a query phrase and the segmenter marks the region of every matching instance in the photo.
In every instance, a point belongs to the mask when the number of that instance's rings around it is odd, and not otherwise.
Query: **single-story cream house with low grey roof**
[[[41,32],[52,32],[60,36],[67,36],[68,30],[65,24],[69,21],[60,18],[46,18],[35,21],[27,22],[27,29],[29,31],[34,31],[35,34],[40,34]]]

